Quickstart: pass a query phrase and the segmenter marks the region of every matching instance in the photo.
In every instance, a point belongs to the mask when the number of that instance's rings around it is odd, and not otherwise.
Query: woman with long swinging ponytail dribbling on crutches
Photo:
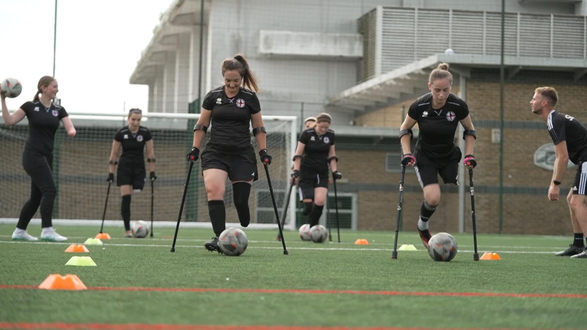
[[[227,179],[232,184],[234,206],[242,227],[247,227],[251,221],[249,194],[252,182],[258,179],[258,173],[249,123],[252,123],[261,161],[271,164],[271,156],[265,147],[266,130],[261,106],[255,93],[259,90],[257,79],[247,59],[241,54],[225,59],[222,62],[222,76],[224,85],[215,87],[204,97],[200,119],[194,126],[194,147],[187,154],[188,161],[198,159],[202,140],[212,122],[210,140],[202,153],[202,171],[215,237],[204,247],[218,253],[218,236],[226,228],[224,191]]]

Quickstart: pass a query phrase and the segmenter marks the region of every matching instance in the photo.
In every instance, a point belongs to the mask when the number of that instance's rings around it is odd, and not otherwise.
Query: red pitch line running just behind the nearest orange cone
[[[35,285],[0,285],[0,289],[36,289]],[[97,291],[151,291],[151,292],[229,292],[257,294],[349,294],[398,295],[420,297],[506,297],[506,298],[587,298],[587,294],[512,294],[500,292],[423,292],[423,291],[360,291],[308,289],[223,289],[223,288],[146,288],[146,287],[87,287]]]

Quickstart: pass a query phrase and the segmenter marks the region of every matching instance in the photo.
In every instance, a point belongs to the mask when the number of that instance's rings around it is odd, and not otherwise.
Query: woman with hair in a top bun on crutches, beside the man
[[[473,169],[477,166],[473,156],[475,128],[471,123],[467,103],[450,92],[453,76],[448,72],[448,64],[440,63],[432,70],[428,80],[430,93],[421,96],[410,105],[408,115],[400,127],[403,166],[414,166],[424,201],[420,207],[418,233],[424,247],[428,248],[430,230],[428,220],[440,203],[440,185],[438,174],[444,183],[458,184],[458,162],[461,150],[454,144],[454,133],[460,122],[465,129],[463,139],[467,143],[467,154],[463,164]],[[410,153],[410,139],[413,137],[411,127],[418,123],[420,129],[416,151]]]

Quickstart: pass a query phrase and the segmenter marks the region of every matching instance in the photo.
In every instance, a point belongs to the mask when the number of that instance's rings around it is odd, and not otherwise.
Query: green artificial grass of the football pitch
[[[480,234],[480,252],[502,260],[475,262],[472,235],[457,234],[456,258],[434,262],[415,233],[400,233],[399,244],[420,251],[392,260],[393,233],[385,232],[342,231],[343,243],[314,244],[288,231],[283,255],[275,230],[247,230],[247,252],[227,257],[204,250],[211,230],[181,229],[171,253],[171,229],[133,239],[106,228],[113,239],[88,245],[85,254],[97,267],[73,267],[65,263],[82,254],[63,251],[97,228],[59,227],[67,244],[6,243],[12,230],[0,225],[0,285],[39,285],[59,273],[76,274],[88,287],[587,294],[587,260],[551,254],[568,237]],[[354,245],[357,238],[371,244]],[[579,329],[587,326],[584,310],[585,298],[0,289],[0,322]]]

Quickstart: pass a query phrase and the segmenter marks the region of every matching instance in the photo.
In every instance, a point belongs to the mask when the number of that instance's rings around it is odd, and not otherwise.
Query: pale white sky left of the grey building
[[[171,0],[58,0],[55,78],[68,111],[147,109],[148,87],[129,79]],[[0,80],[14,77],[32,100],[42,76],[53,75],[55,0],[0,0]]]

